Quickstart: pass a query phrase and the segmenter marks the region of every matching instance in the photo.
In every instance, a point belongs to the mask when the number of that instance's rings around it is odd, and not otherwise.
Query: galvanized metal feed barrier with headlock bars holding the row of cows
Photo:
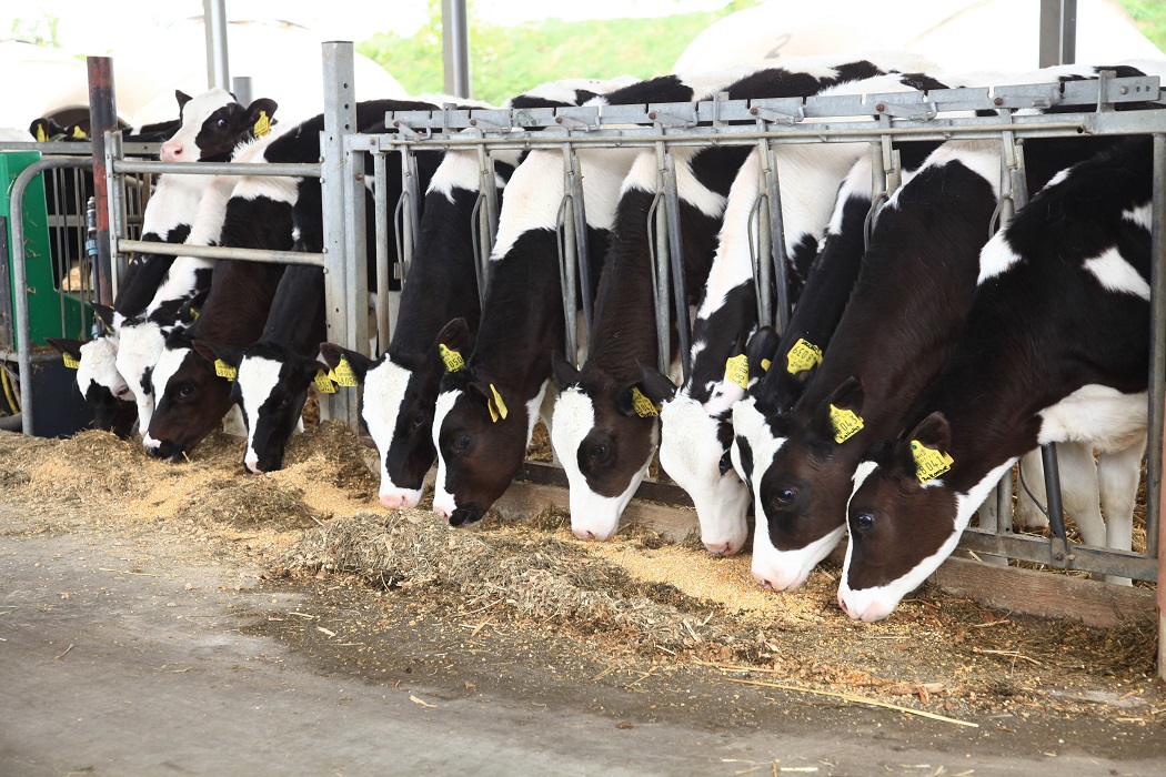
[[[676,193],[672,149],[677,146],[735,144],[754,146],[761,153],[763,192],[754,209],[758,233],[754,256],[758,304],[763,320],[772,322],[779,331],[788,320],[788,301],[785,297],[786,260],[781,224],[780,170],[774,154],[778,143],[837,143],[863,142],[871,148],[874,162],[872,193],[878,207],[894,192],[900,178],[893,139],[949,140],[996,139],[1003,143],[1002,197],[999,218],[1006,221],[1027,198],[1024,185],[1024,141],[1030,137],[1060,137],[1079,134],[1095,135],[1153,135],[1154,256],[1152,296],[1152,353],[1150,369],[1150,452],[1146,515],[1146,553],[1131,553],[1070,543],[1061,521],[1060,492],[1055,485],[1055,466],[1046,467],[1049,480],[1051,535],[1049,539],[1019,536],[1012,532],[1010,509],[996,525],[982,525],[964,532],[961,548],[977,553],[1003,556],[1038,561],[1054,567],[1082,570],[1094,573],[1157,580],[1160,525],[1160,486],[1163,466],[1163,408],[1164,379],[1166,379],[1166,242],[1161,227],[1166,224],[1166,111],[1129,110],[1117,106],[1129,103],[1159,101],[1160,85],[1157,77],[1110,78],[1096,82],[1066,84],[1037,84],[988,89],[961,89],[922,92],[895,92],[862,97],[830,96],[808,99],[726,100],[714,99],[698,105],[639,105],[568,107],[557,110],[473,110],[444,107],[440,111],[389,114],[386,125],[394,133],[359,135],[353,132],[354,99],[352,96],[351,44],[324,43],[325,130],[321,139],[318,164],[163,164],[131,161],[122,156],[115,135],[106,149],[107,169],[111,171],[108,214],[110,249],[113,255],[149,249],[154,253],[174,253],[215,259],[247,259],[252,261],[295,262],[321,266],[325,274],[328,337],[346,347],[365,348],[367,317],[365,316],[367,288],[365,278],[365,162],[372,155],[375,182],[374,207],[378,225],[374,250],[379,266],[378,329],[381,342],[387,342],[391,322],[385,301],[388,282],[387,226],[393,219],[398,225],[400,256],[407,268],[413,260],[419,233],[419,191],[415,155],[434,149],[473,149],[479,158],[483,181],[482,199],[475,218],[477,267],[483,295],[487,278],[489,247],[497,233],[498,203],[492,197],[491,154],[500,149],[555,149],[563,157],[564,191],[560,209],[560,262],[563,277],[563,305],[567,315],[567,341],[570,353],[577,342],[575,327],[575,291],[590,288],[591,268],[586,263],[585,203],[582,197],[577,153],[584,148],[638,147],[654,149],[658,160],[658,195],[648,217],[654,235],[655,309],[658,338],[661,353],[667,354],[668,319],[675,316],[688,375],[689,316],[688,294],[680,274],[682,246],[680,231],[680,202]],[[1024,108],[1080,106],[1077,112],[1017,115]],[[985,110],[998,115],[975,116],[970,112]],[[962,118],[947,118],[951,112],[965,112]],[[873,119],[871,118],[873,116]],[[398,203],[385,199],[385,155],[402,155],[403,195]],[[324,249],[319,254],[294,254],[230,248],[198,248],[141,243],[128,238],[128,219],[124,216],[124,176],[129,174],[232,174],[232,175],[290,175],[319,176],[324,196]],[[392,216],[391,216],[392,214]],[[17,273],[22,271],[22,256],[15,252]],[[771,294],[771,289],[777,294]],[[19,305],[17,305],[19,308]],[[19,312],[19,311],[17,311]],[[583,295],[582,313],[590,325],[591,301]],[[17,330],[27,326],[17,322]],[[26,339],[27,340],[27,339]],[[21,354],[27,347],[21,341]],[[666,356],[665,356],[666,358]],[[660,365],[667,367],[667,365]],[[23,386],[22,386],[23,388]],[[357,394],[338,393],[330,398],[331,416],[352,428],[359,424]],[[1052,452],[1046,453],[1053,464]],[[676,487],[646,483],[652,497],[683,503],[687,501]],[[644,493],[641,490],[641,493]],[[998,502],[1011,508],[1012,487],[1009,479],[1003,485]]]

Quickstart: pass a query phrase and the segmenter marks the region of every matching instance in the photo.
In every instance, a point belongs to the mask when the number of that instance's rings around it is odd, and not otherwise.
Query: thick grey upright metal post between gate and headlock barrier
[[[328,339],[347,348],[364,352],[368,347],[367,337],[359,344],[358,332],[350,331],[350,308],[361,306],[367,333],[367,316],[364,299],[358,297],[347,277],[351,246],[349,245],[349,219],[356,217],[346,212],[354,186],[364,189],[363,182],[352,179],[351,163],[344,151],[344,135],[356,133],[357,112],[353,94],[352,43],[330,41],[322,43],[324,66],[324,132],[321,136],[321,189],[324,200],[324,310],[328,319]],[[364,197],[358,198],[361,207],[360,225],[364,226]],[[361,256],[364,246],[360,246]],[[359,284],[366,287],[364,266],[360,267]],[[332,418],[343,421],[353,430],[359,426],[358,395],[356,391],[337,391],[330,395],[329,411]]]

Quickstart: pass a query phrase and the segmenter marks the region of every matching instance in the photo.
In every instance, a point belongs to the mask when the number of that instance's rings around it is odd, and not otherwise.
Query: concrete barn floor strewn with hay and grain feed
[[[921,592],[854,624],[829,570],[760,596],[644,531],[386,516],[350,443],[244,478],[230,440],[0,433],[0,774],[1166,769],[1149,623]]]

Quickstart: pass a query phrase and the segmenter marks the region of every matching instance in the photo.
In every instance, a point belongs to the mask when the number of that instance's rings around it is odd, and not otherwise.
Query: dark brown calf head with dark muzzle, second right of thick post
[[[448,373],[434,412],[434,511],[450,525],[482,520],[522,468],[543,383],[527,402],[472,366]]]

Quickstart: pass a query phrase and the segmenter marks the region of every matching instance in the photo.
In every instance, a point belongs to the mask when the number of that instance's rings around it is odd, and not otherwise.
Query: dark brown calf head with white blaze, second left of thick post
[[[142,444],[150,455],[176,461],[211,433],[231,408],[231,377],[219,376],[215,352],[185,332],[173,333],[154,366],[157,402]],[[218,369],[230,375],[230,370]]]

